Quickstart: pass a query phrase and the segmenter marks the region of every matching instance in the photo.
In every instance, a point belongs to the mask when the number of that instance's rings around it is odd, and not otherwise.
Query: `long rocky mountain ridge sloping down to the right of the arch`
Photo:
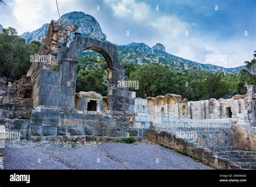
[[[224,68],[212,64],[203,64],[165,52],[162,44],[156,44],[152,48],[144,43],[132,42],[128,45],[118,47],[119,60],[124,62],[132,62],[135,64],[160,63],[167,64],[170,68],[179,70],[196,70],[205,69],[214,73],[223,72],[225,74],[237,74],[244,68],[239,66],[236,68]]]

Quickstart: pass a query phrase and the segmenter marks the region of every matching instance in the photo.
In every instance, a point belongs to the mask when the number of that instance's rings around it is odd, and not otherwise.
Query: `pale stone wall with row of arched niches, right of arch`
[[[147,97],[147,111],[154,123],[159,118],[181,119],[227,119],[238,117],[255,120],[256,87],[248,85],[246,95],[235,95],[230,99],[207,99],[188,101],[181,96],[168,93],[156,98]]]

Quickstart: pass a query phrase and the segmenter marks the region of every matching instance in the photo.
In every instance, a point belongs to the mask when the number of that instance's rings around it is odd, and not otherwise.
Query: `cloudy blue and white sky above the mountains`
[[[18,34],[58,19],[56,0],[5,0],[0,24]],[[60,16],[83,11],[117,45],[157,43],[188,60],[226,68],[256,51],[256,0],[58,0]],[[129,35],[127,35],[129,31]]]

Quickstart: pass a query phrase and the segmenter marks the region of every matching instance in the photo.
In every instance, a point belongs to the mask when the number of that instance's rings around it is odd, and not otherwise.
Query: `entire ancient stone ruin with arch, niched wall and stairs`
[[[218,155],[215,150],[236,147],[246,154],[255,153],[256,86],[248,85],[246,95],[230,99],[194,102],[170,93],[156,98],[136,98],[135,92],[118,87],[118,81],[127,77],[115,45],[76,33],[70,46],[66,46],[69,35],[77,28],[77,25],[51,21],[37,53],[45,58],[33,62],[28,74],[5,88],[0,97],[2,132],[19,132],[22,139],[35,136],[76,136],[86,141],[121,140],[127,136],[136,140],[148,138],[200,157],[216,168],[255,167],[251,163],[231,163],[224,152]],[[107,97],[93,90],[76,93],[78,56],[86,50],[96,51],[106,60]],[[197,134],[191,140],[178,137],[179,131],[197,131]],[[242,136],[245,133],[247,136]],[[1,155],[0,152],[0,162]]]

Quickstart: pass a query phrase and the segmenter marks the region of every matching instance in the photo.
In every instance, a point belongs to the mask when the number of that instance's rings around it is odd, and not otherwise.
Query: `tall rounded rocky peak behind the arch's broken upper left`
[[[86,15],[84,12],[66,13],[60,17],[60,21],[67,24],[77,24],[78,30],[76,32],[80,32],[86,37],[107,41],[106,35],[102,32],[98,21],[91,15]],[[20,37],[26,39],[26,42],[31,42],[33,40],[41,41],[46,35],[48,26],[49,24],[46,23],[41,28],[38,28],[33,32],[23,33]],[[71,34],[69,42],[72,40],[74,34],[75,33]]]

